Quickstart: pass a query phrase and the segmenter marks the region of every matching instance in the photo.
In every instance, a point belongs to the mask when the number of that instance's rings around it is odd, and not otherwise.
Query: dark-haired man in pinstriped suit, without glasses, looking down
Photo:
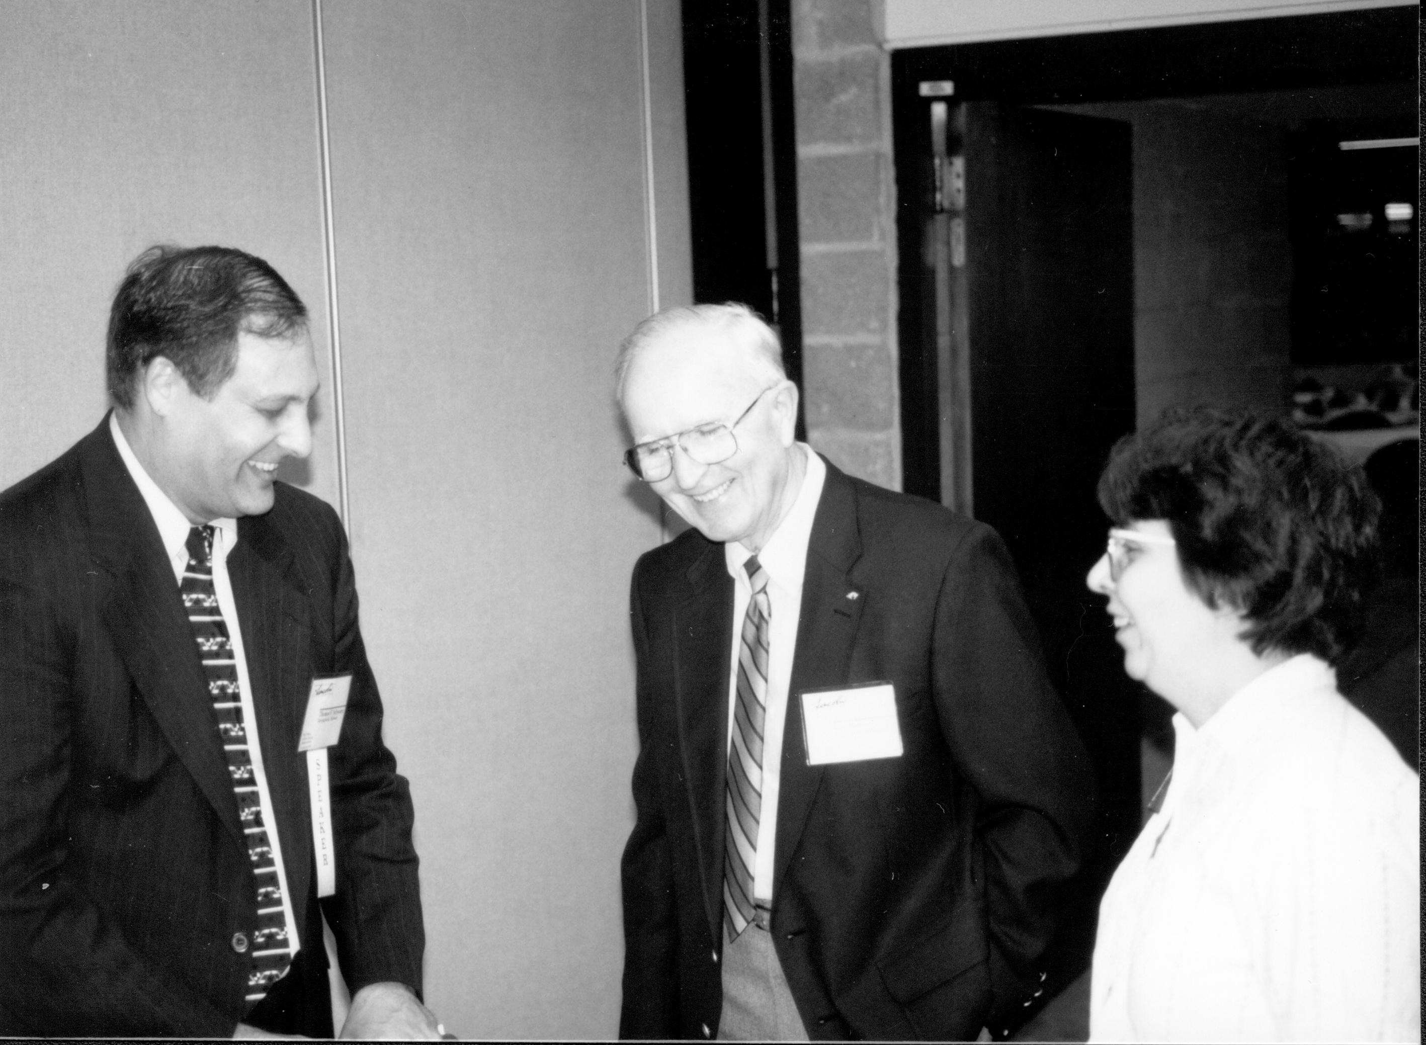
[[[331,1036],[325,911],[344,1036],[439,1036],[347,539],[274,478],[311,451],[307,309],[260,258],[153,248],[107,376],[113,413],[0,493],[0,1034]],[[332,676],[319,907],[298,746]]]

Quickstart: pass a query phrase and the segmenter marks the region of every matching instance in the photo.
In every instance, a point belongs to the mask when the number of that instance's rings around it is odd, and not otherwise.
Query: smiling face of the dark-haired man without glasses
[[[150,364],[145,393],[161,418],[154,482],[194,523],[262,515],[284,458],[312,451],[312,339],[238,334],[237,366],[212,399],[194,395],[167,359]]]

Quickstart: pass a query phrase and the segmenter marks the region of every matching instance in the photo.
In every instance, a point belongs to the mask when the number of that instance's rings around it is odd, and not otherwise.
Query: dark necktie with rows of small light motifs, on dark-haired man
[[[234,659],[228,626],[218,607],[212,587],[212,526],[188,530],[188,566],[184,569],[183,604],[188,613],[193,637],[198,643],[202,670],[208,676],[208,696],[218,724],[222,753],[232,776],[232,793],[238,800],[238,817],[248,841],[257,888],[258,921],[248,938],[252,965],[248,969],[248,1008],[267,995],[292,962],[287,938],[287,915],[282,911],[282,882],[278,878],[272,844],[262,823],[262,801],[258,798],[252,758],[248,754],[248,733],[242,724],[242,691],[238,664]],[[238,934],[242,935],[242,934]],[[234,941],[237,942],[237,940]]]

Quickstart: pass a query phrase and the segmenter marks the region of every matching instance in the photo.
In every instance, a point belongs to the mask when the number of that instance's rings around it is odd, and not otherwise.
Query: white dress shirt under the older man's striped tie
[[[811,448],[797,443],[807,460],[801,489],[787,518],[757,553],[767,570],[767,709],[763,716],[763,791],[757,813],[757,860],[753,867],[753,900],[773,902],[773,848],[777,838],[777,790],[781,781],[783,723],[787,719],[787,687],[793,677],[797,649],[797,619],[801,614],[801,582],[807,570],[807,542],[817,515],[827,466]],[[727,741],[733,743],[733,707],[737,701],[737,654],[743,644],[743,617],[753,599],[753,586],[743,563],[753,553],[736,540],[723,545],[727,572],[733,576],[733,646],[729,650]]]

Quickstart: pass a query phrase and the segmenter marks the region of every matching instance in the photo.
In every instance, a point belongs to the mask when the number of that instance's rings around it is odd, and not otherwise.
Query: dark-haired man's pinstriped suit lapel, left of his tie
[[[110,582],[100,594],[100,619],[174,754],[242,843],[232,780],[208,707],[208,679],[158,527],[118,456],[108,418],[86,438],[80,468],[90,555]]]

